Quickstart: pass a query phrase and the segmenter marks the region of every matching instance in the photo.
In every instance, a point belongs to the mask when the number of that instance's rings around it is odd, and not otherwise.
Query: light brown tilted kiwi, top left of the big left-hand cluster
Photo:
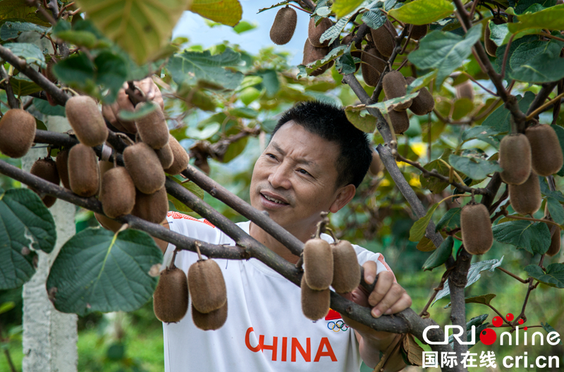
[[[98,104],[88,96],[74,96],[65,104],[68,123],[81,144],[94,147],[106,142],[108,128]]]

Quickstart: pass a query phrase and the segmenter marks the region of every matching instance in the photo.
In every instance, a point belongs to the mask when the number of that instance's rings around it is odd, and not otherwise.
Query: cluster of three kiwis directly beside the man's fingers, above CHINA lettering
[[[360,266],[353,245],[346,240],[329,244],[319,237],[305,242],[303,251],[302,312],[315,321],[329,313],[331,290],[352,292],[360,284]]]

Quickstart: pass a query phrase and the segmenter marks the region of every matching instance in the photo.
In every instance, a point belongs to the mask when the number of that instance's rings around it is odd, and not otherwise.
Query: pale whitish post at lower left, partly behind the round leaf
[[[66,118],[45,118],[45,125],[49,130],[65,132],[70,129]],[[33,162],[46,155],[47,149],[30,150],[22,159],[22,168],[30,171]],[[77,370],[78,317],[57,311],[47,298],[45,287],[49,268],[59,254],[61,246],[75,235],[75,206],[57,200],[50,211],[56,223],[55,249],[51,254],[38,252],[37,271],[23,286],[23,372]]]

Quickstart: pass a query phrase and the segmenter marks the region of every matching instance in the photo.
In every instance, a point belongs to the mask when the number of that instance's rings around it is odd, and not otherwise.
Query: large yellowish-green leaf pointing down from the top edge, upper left
[[[106,37],[141,64],[166,45],[190,0],[78,0]]]

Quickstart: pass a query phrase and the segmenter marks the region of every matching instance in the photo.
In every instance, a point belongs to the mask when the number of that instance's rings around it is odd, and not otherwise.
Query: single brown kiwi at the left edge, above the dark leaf
[[[35,118],[22,109],[11,109],[0,119],[0,152],[21,158],[35,139]]]

